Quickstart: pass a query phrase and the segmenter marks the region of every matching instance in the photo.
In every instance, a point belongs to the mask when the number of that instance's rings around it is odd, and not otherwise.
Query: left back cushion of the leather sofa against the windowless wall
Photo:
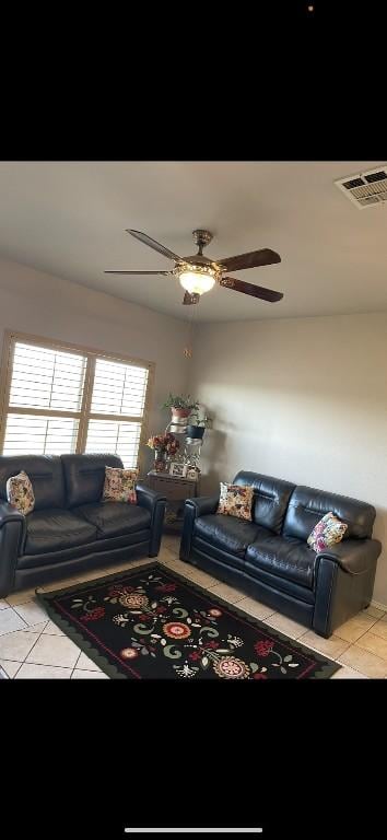
[[[295,488],[290,481],[259,472],[242,470],[237,472],[234,485],[254,487],[253,521],[257,525],[281,534],[289,500]],[[312,528],[310,528],[312,530]]]

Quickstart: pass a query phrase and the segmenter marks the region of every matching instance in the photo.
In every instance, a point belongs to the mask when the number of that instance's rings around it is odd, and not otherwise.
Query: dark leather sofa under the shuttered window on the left
[[[165,497],[137,485],[137,504],[102,502],[105,466],[116,455],[0,457],[0,598],[80,570],[133,556],[156,557]],[[7,502],[7,479],[24,469],[35,509],[27,516]]]

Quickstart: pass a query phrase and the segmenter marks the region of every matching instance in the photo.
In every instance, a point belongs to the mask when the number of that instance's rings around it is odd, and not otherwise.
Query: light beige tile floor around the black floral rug
[[[332,679],[387,678],[387,612],[376,607],[360,612],[339,627],[330,639],[322,639],[270,607],[248,598],[200,569],[178,559],[178,537],[164,536],[160,562],[169,565],[210,592],[237,604],[241,609],[265,621],[291,639],[336,660],[342,667]],[[132,561],[130,567],[149,563],[150,559]],[[72,585],[78,581],[114,574],[127,568],[121,563],[96,569],[55,584],[47,591]],[[48,619],[35,598],[34,590],[14,593],[0,600],[0,670],[10,679],[108,679],[74,642]]]

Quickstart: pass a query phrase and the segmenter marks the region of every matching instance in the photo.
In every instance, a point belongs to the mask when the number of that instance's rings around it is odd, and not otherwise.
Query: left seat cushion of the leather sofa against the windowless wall
[[[244,557],[247,546],[254,542],[259,532],[270,533],[255,522],[210,513],[196,520],[194,537],[200,537],[228,553]]]

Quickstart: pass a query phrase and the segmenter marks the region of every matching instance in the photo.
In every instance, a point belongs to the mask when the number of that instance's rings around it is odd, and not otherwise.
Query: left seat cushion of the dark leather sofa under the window
[[[46,551],[60,551],[64,548],[93,542],[97,533],[95,525],[82,516],[49,508],[34,511],[26,517],[26,539],[24,555],[43,555]]]

